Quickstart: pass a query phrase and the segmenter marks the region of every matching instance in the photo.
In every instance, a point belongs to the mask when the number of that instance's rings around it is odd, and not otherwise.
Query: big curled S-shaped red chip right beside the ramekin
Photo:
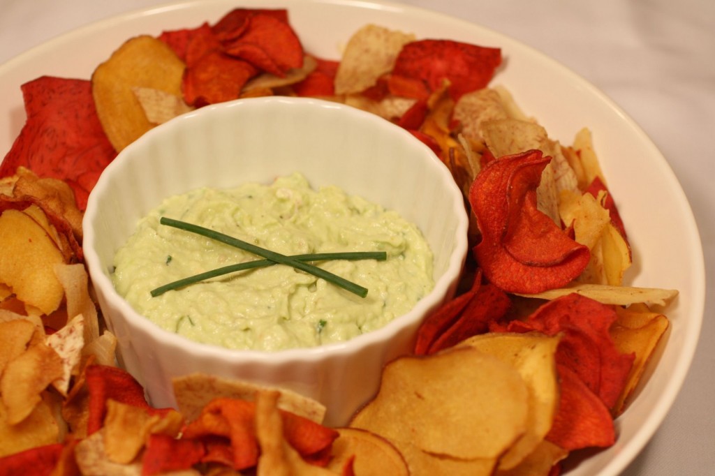
[[[485,277],[506,292],[563,287],[588,265],[588,248],[536,209],[536,187],[549,158],[532,150],[490,162],[469,202],[482,240],[474,248]]]

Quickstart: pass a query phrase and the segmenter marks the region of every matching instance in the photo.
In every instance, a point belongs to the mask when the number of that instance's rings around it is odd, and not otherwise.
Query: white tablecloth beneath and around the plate
[[[0,64],[71,29],[165,0],[0,0]],[[585,76],[669,160],[715,272],[715,1],[407,0],[540,49]],[[237,6],[240,0],[236,1]],[[78,52],[78,54],[81,54]],[[625,475],[715,475],[715,295],[669,416]]]

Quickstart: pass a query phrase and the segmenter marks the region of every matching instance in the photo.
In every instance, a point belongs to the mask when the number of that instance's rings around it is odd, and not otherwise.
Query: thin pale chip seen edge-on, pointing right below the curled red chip
[[[590,297],[603,304],[616,304],[629,306],[636,303],[647,305],[665,306],[671,299],[678,295],[676,289],[659,289],[655,287],[628,287],[611,286],[608,284],[583,284],[572,283],[559,289],[550,289],[538,294],[517,294],[523,297],[536,299],[556,299],[575,292],[582,296]]]

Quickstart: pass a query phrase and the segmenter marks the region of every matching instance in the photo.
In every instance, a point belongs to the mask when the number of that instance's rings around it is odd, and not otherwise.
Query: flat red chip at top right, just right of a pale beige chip
[[[501,64],[501,49],[445,39],[424,39],[405,44],[395,60],[393,75],[420,79],[430,91],[443,81],[458,100],[463,94],[482,89]]]

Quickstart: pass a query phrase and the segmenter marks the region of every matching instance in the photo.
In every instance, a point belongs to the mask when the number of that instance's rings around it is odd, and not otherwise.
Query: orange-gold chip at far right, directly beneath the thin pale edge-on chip
[[[637,306],[633,306],[633,308],[637,308]],[[620,415],[633,397],[633,391],[641,381],[646,366],[669,329],[670,323],[663,314],[649,312],[648,309],[617,307],[616,314],[618,314],[618,319],[610,330],[613,342],[616,344],[618,352],[636,354],[623,392],[613,407],[613,413]]]

